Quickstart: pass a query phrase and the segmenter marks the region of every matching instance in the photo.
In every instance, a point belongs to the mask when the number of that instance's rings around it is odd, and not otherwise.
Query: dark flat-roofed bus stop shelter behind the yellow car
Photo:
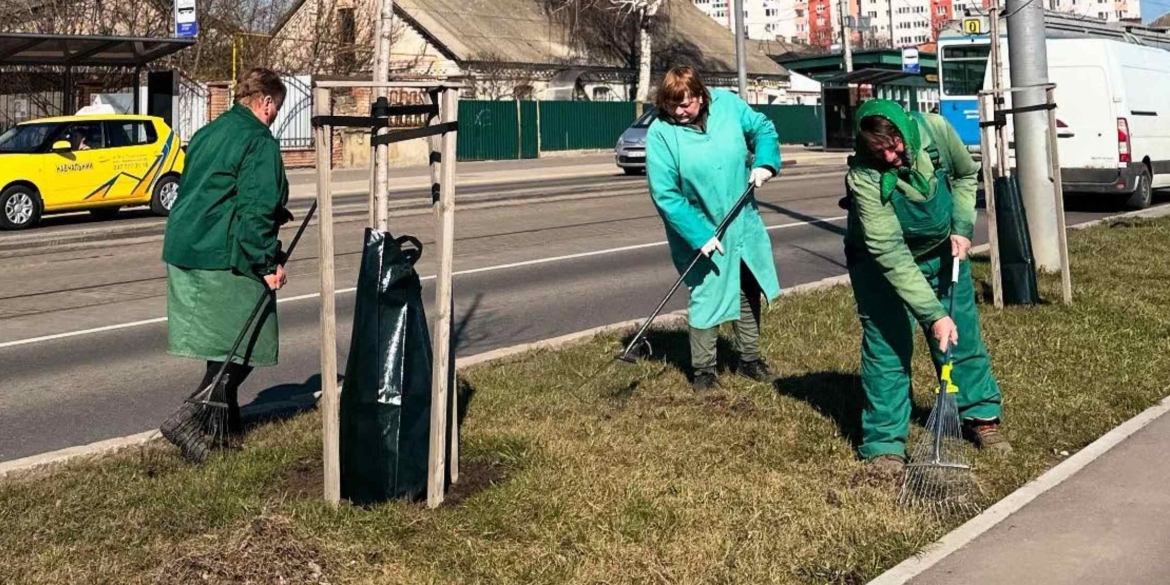
[[[74,113],[76,76],[94,71],[130,73],[133,111],[140,113],[142,71],[194,43],[193,39],[0,33],[0,130],[23,122],[20,118]]]

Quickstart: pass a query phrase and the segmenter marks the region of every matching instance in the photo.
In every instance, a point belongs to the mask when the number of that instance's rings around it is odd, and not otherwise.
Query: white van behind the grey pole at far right
[[[1107,39],[1048,39],[1047,48],[1065,191],[1148,207],[1151,188],[1170,186],[1170,50]],[[1007,131],[1011,140],[1011,123]]]

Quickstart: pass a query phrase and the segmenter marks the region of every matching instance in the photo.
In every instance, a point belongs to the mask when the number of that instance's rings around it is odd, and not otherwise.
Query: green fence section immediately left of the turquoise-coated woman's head
[[[541,150],[612,149],[634,111],[633,102],[541,102]]]

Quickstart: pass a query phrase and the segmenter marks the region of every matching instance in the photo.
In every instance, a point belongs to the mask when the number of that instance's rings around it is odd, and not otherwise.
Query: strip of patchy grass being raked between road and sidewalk
[[[1016,453],[976,455],[983,507],[1166,393],[1170,260],[1151,252],[1165,245],[1165,219],[1076,232],[1073,307],[984,301]],[[990,297],[986,275],[978,263]],[[1059,300],[1057,278],[1041,285]],[[324,504],[317,413],[202,467],[154,445],[7,481],[0,583],[860,584],[965,519],[860,481],[847,287],[783,298],[763,333],[777,385],[724,373],[708,395],[687,384],[684,331],[584,387],[622,337],[461,372],[463,481],[439,510]],[[924,411],[921,339],[915,369]]]

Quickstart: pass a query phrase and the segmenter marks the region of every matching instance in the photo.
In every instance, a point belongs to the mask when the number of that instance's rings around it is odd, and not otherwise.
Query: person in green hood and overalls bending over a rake
[[[932,113],[907,113],[872,99],[856,113],[856,151],[846,176],[846,261],[861,318],[863,459],[901,472],[910,421],[914,325],[941,366],[952,345],[952,377],[968,435],[1011,450],[999,432],[1000,392],[975,304],[968,252],[975,234],[979,165],[955,129]],[[959,262],[958,284],[951,269]],[[954,314],[948,314],[950,297]]]

